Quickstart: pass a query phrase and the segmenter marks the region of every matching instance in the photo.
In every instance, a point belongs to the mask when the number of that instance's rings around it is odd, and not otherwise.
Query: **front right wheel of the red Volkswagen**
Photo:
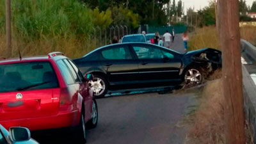
[[[97,107],[97,102],[95,99],[93,99],[93,104],[92,104],[92,118],[89,120],[86,124],[87,129],[93,129],[97,127],[98,124],[98,107]]]

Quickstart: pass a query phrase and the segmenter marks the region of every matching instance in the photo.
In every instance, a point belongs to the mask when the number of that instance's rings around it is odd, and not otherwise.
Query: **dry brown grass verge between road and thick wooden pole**
[[[191,126],[185,143],[225,144],[225,99],[222,79],[209,81],[202,88],[198,98],[198,106],[186,117],[186,123]],[[247,122],[244,129],[246,143],[252,144],[252,132]]]

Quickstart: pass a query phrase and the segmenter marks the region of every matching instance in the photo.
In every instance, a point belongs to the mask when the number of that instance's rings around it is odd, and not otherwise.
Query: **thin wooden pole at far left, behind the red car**
[[[6,0],[6,50],[5,57],[12,56],[11,0]]]

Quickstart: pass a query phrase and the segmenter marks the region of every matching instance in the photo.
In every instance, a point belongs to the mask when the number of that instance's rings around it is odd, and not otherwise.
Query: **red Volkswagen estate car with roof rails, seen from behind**
[[[0,61],[0,124],[30,130],[97,126],[97,103],[88,81],[60,52],[48,56]]]

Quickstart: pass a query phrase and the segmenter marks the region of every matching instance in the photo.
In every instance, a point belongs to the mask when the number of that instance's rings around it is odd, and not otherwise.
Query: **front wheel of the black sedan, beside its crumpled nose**
[[[202,84],[204,81],[204,70],[200,67],[191,67],[184,72],[183,88],[190,88]]]

